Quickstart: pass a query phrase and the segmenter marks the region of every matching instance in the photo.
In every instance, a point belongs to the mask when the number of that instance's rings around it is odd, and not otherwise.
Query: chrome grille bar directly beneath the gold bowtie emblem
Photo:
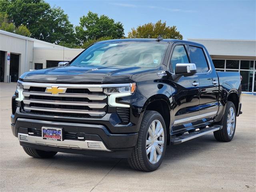
[[[40,95],[40,96],[55,96],[55,97],[83,97],[88,98],[89,100],[104,100],[107,98],[106,95],[91,95],[91,94],[58,94],[52,95],[50,93],[44,92],[23,92],[25,97],[29,97],[30,95]]]

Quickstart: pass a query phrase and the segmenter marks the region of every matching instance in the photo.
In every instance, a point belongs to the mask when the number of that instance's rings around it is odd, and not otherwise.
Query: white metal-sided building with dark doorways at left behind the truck
[[[0,30],[0,82],[17,82],[26,71],[58,66],[82,51]]]

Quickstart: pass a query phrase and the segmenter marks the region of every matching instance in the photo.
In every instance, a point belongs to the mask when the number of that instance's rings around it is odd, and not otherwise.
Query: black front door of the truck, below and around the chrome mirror
[[[173,126],[172,131],[184,129],[197,124],[199,116],[199,78],[193,76],[177,76],[177,63],[190,63],[187,46],[176,43],[172,46],[169,66],[173,92]]]

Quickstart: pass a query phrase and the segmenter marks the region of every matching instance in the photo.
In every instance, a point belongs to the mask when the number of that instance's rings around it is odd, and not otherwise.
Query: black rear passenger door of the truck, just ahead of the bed
[[[190,44],[188,48],[199,77],[199,110],[200,121],[203,123],[212,120],[218,112],[218,76],[204,47]]]

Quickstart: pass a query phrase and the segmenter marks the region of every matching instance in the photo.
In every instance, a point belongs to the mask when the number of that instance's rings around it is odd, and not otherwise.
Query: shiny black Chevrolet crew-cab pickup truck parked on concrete
[[[156,170],[170,144],[213,132],[229,142],[241,112],[238,72],[216,72],[202,44],[97,42],[61,67],[22,74],[11,127],[25,152],[127,158]]]

